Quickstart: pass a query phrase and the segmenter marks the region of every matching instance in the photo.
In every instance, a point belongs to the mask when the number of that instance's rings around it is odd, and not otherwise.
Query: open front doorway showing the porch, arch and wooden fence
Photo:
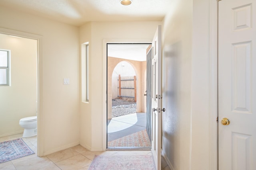
[[[146,54],[150,45],[107,44],[107,149],[151,149],[146,127]]]

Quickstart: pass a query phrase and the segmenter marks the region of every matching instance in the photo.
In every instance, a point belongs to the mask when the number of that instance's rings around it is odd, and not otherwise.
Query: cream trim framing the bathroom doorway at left
[[[22,31],[16,31],[16,30],[12,30],[12,29],[6,29],[6,28],[2,28],[0,27],[0,33],[4,33],[4,34],[8,34],[8,35],[14,35],[14,36],[18,36],[18,37],[26,37],[26,38],[30,38],[30,39],[36,39],[37,40],[37,44],[38,44],[38,115],[37,115],[37,153],[38,156],[44,156],[43,155],[43,150],[44,150],[44,144],[43,144],[43,134],[44,134],[44,129],[43,129],[43,107],[41,107],[43,105],[43,59],[42,59],[42,36],[41,35],[36,35],[36,34],[31,34],[31,33],[26,33],[26,32],[22,32]]]

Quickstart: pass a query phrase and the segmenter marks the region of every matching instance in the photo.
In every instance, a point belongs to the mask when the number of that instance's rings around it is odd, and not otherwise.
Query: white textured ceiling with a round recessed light
[[[162,21],[172,0],[0,0],[12,8],[75,26],[88,21]]]

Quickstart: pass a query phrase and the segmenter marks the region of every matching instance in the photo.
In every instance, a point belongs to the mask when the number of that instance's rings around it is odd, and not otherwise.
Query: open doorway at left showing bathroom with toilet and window
[[[15,33],[0,33],[0,142],[22,138],[37,152],[38,39]],[[31,125],[26,133],[20,119]]]

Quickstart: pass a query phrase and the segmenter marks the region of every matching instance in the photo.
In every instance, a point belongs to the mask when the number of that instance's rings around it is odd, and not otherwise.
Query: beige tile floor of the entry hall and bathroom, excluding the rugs
[[[0,142],[22,138],[22,134],[0,138]],[[95,155],[137,155],[152,154],[150,150],[108,150],[92,152],[84,147],[61,150],[47,156],[37,156],[37,137],[22,138],[36,154],[0,164],[0,170],[88,170]],[[162,157],[162,170],[170,170]]]

